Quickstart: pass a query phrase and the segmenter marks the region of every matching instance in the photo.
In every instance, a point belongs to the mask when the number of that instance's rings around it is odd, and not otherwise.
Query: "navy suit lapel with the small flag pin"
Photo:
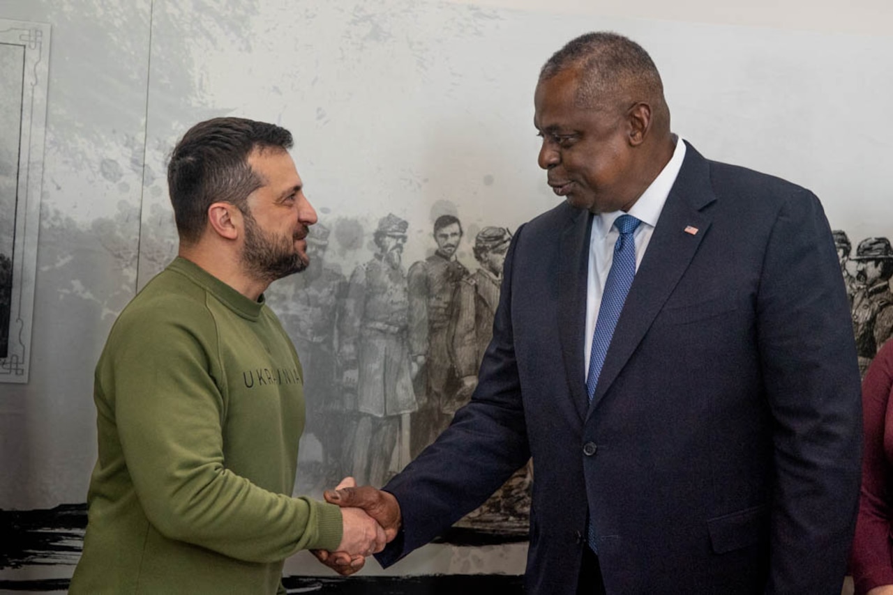
[[[663,205],[614,329],[588,415],[636,350],[707,234],[711,217],[703,210],[716,200],[709,174],[704,157],[687,145],[685,161]],[[697,232],[689,233],[692,228]]]

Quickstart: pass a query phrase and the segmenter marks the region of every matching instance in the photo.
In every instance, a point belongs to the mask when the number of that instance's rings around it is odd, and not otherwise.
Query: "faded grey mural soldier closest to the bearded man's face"
[[[326,484],[350,475],[343,452],[345,403],[338,374],[336,323],[344,301],[347,280],[325,266],[330,230],[321,223],[310,228],[307,256],[310,264],[296,277],[288,311],[280,316],[300,354],[305,374],[307,434],[313,434],[322,449]]]

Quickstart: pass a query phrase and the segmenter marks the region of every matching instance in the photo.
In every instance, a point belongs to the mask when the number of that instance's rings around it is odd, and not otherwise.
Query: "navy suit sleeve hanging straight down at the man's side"
[[[860,384],[830,227],[805,190],[775,220],[756,310],[774,422],[767,592],[837,595],[858,500]]]

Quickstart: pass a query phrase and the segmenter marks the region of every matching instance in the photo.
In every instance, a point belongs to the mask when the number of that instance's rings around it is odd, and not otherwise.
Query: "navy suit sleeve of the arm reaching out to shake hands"
[[[403,529],[376,555],[390,566],[446,531],[487,500],[530,459],[512,330],[512,262],[522,229],[505,257],[490,342],[472,401],[437,441],[383,488],[400,503]]]

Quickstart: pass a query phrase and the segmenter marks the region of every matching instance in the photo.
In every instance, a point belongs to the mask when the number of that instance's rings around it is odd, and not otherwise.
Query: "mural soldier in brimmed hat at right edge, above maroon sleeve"
[[[893,332],[893,248],[886,237],[868,237],[859,243],[853,260],[856,279],[863,284],[853,297],[853,331],[859,355],[859,370],[864,376],[890,333]]]

